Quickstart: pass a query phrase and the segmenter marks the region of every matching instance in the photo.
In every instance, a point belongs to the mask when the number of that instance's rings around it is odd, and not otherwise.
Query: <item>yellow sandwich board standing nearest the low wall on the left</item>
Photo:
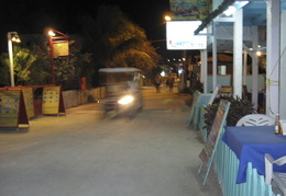
[[[43,89],[42,114],[58,115],[65,113],[61,87],[45,87]]]

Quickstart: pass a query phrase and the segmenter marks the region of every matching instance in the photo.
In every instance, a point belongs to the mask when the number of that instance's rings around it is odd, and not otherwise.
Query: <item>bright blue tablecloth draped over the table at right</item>
[[[265,175],[265,153],[274,159],[286,155],[286,136],[275,135],[274,126],[227,127],[222,141],[240,160],[238,184],[246,182],[248,162],[252,162],[258,174]],[[286,172],[286,165],[274,165],[274,171]]]

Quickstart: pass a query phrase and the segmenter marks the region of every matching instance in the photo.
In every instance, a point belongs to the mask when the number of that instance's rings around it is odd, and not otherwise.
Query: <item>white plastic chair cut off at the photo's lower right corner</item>
[[[268,153],[265,154],[265,183],[271,184],[272,180],[275,181],[283,194],[286,196],[286,173],[273,172],[273,164],[283,165],[286,163],[286,155],[277,160]]]

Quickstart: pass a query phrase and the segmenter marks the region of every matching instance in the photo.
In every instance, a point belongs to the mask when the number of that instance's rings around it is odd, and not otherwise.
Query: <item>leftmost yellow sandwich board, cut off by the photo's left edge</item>
[[[29,125],[22,91],[0,91],[0,127],[16,128],[19,124]]]

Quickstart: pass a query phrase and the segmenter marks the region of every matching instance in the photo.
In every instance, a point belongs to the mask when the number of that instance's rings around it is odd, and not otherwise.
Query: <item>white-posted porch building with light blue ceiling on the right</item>
[[[223,12],[230,5],[234,8],[233,12],[226,15]],[[233,95],[241,97],[246,67],[243,54],[249,54],[252,57],[252,102],[257,105],[258,60],[254,51],[263,49],[267,59],[265,113],[270,116],[279,113],[280,117],[286,119],[286,88],[284,85],[286,83],[286,77],[284,77],[286,76],[286,0],[212,0],[212,12],[202,21],[196,33],[204,27],[208,27],[210,34],[208,49],[212,50],[213,56],[213,87],[217,84],[216,54],[221,49],[232,50]],[[206,54],[202,50],[201,57],[207,58]],[[205,71],[202,73],[205,87],[207,87],[206,76]]]

